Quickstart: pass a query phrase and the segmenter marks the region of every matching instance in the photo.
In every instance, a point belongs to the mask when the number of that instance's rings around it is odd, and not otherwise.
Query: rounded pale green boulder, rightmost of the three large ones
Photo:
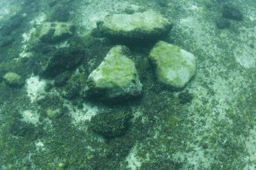
[[[196,57],[172,44],[159,41],[151,50],[160,82],[175,88],[184,87],[196,73]]]

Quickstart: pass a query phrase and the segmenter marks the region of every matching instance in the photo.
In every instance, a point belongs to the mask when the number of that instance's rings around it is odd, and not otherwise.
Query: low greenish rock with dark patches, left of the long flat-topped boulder
[[[36,35],[41,41],[55,43],[69,38],[74,34],[75,26],[71,23],[43,23],[37,30]]]

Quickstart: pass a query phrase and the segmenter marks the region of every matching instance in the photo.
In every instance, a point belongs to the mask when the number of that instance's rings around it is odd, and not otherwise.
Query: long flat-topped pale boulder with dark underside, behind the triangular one
[[[169,32],[171,23],[154,11],[134,14],[110,14],[98,23],[102,35],[114,41],[155,40]]]

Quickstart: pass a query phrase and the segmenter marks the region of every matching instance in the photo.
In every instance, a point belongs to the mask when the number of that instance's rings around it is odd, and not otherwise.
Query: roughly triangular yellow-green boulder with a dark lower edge
[[[103,100],[139,96],[142,83],[134,62],[127,57],[129,53],[125,46],[112,47],[98,68],[90,73],[87,92]]]

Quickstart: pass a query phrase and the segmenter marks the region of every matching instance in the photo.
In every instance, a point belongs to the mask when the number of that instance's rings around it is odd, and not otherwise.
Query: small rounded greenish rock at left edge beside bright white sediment
[[[23,85],[24,80],[19,74],[14,72],[8,72],[4,75],[3,79],[11,87],[20,87]]]

